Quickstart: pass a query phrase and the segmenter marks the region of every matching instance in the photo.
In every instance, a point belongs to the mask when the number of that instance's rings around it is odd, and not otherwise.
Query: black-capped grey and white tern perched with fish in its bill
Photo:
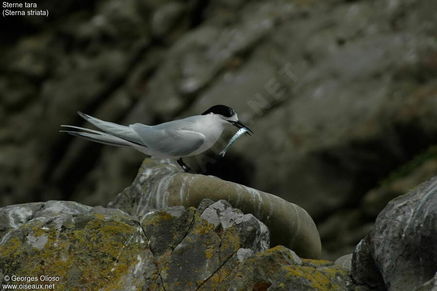
[[[176,159],[186,172],[193,173],[182,160],[183,157],[200,154],[216,143],[224,128],[235,125],[237,128],[247,128],[238,120],[234,109],[225,105],[215,105],[202,113],[181,120],[173,120],[157,125],[134,123],[128,126],[103,121],[80,111],[77,112],[84,120],[98,127],[101,131],[61,125],[86,132],[60,131],[70,135],[107,145],[134,148],[141,153],[155,158]],[[247,128],[250,132],[249,128]],[[251,135],[246,131],[248,135]],[[253,133],[253,132],[252,132]]]

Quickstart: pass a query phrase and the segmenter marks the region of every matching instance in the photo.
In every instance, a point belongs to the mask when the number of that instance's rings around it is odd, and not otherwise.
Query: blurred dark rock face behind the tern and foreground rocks
[[[434,0],[36,3],[49,17],[0,18],[0,206],[106,205],[131,184],[144,155],[58,132],[86,126],[77,110],[235,108],[256,135],[186,162],[305,208],[327,259],[437,174]]]

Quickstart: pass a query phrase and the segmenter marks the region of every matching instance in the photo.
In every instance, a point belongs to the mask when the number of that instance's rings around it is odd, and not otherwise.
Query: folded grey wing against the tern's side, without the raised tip
[[[155,129],[141,123],[135,123],[129,127],[136,132],[146,147],[171,156],[191,154],[205,143],[205,136],[194,131]]]

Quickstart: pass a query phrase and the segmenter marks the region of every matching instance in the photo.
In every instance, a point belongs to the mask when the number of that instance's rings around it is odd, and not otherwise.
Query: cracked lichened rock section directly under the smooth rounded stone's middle
[[[185,211],[183,209],[176,206],[152,210],[143,217],[143,226],[147,224],[144,231],[157,256],[166,290],[197,290],[232,256],[239,254],[240,257],[247,257],[264,252],[269,247],[267,227],[251,214],[243,215],[223,200],[209,205],[203,211],[193,211],[192,207]],[[174,220],[178,217],[182,217],[184,226],[162,228],[163,225],[153,227],[150,224],[151,221],[159,221],[164,225],[176,224]],[[161,231],[168,229],[168,234],[161,236],[159,228]],[[185,235],[182,240],[175,235],[181,233]]]

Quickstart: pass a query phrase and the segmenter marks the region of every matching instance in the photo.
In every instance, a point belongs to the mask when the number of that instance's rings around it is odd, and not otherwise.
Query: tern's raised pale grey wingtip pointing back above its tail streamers
[[[84,120],[88,121],[89,123],[93,124],[94,126],[100,128],[101,130],[122,139],[129,140],[131,142],[143,145],[141,142],[141,139],[138,137],[138,135],[132,130],[131,127],[120,125],[113,122],[103,121],[100,119],[97,119],[95,117],[89,116],[87,114],[84,114],[80,111],[77,112]],[[145,125],[146,126],[146,125]]]

